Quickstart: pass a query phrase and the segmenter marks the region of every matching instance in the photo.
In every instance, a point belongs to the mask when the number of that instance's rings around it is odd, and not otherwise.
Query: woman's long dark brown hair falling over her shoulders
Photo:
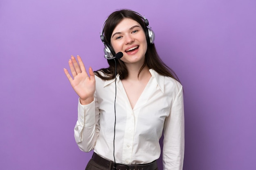
[[[135,13],[134,11],[127,10],[127,9],[115,11],[109,15],[103,29],[105,43],[110,44],[111,46],[111,43],[110,43],[111,35],[115,27],[117,26],[117,24],[119,24],[124,18],[130,18],[132,20],[135,20],[141,25],[142,28],[144,28],[144,31],[147,29],[146,24],[144,23],[144,18],[138,15],[137,13]],[[119,59],[115,59],[115,60],[117,65],[117,74],[119,74],[120,79],[122,80],[128,76],[128,70],[123,61]],[[101,68],[100,70],[97,70],[94,72],[98,77],[100,77],[103,80],[111,80],[115,78],[114,59],[111,59],[111,60],[108,59],[108,64],[109,64],[108,68]],[[139,73],[146,65],[148,66],[149,69],[152,68],[160,75],[172,77],[175,80],[180,82],[175,72],[160,59],[154,44],[148,44],[148,48],[145,54],[145,61],[142,67],[140,68]],[[101,72],[104,74],[102,75]],[[138,76],[139,76],[139,73],[138,73]]]

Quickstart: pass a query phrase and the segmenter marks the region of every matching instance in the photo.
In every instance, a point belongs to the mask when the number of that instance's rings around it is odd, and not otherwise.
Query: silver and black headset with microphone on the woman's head
[[[132,11],[132,10],[130,10],[130,11]],[[148,24],[148,20],[145,18],[145,16],[142,16],[140,13],[137,13],[137,12],[135,12],[135,11],[132,11],[132,12],[136,13],[136,14],[139,15],[141,18],[143,18],[144,23],[145,23],[145,25],[146,25],[146,28],[145,28],[144,31],[145,31],[145,34],[146,34],[147,43],[148,43],[148,45],[149,45],[149,44],[154,44],[155,33],[153,32],[153,30],[151,30],[151,27],[150,27],[149,24]],[[104,35],[103,35],[104,26],[105,26],[107,20],[108,20],[108,18],[105,20],[105,22],[103,23],[103,25],[102,25],[102,27],[101,27],[101,33],[100,33],[101,36],[100,36],[100,38],[101,38],[101,41],[102,41],[103,44],[104,44],[104,48],[103,48],[104,53],[105,53],[104,57],[105,57],[106,59],[115,59],[115,58],[118,58],[118,57],[116,56],[115,51],[112,49],[112,47],[110,46],[110,44],[108,44],[108,43],[105,42],[105,37],[104,37]],[[121,58],[121,57],[120,57],[120,58]]]

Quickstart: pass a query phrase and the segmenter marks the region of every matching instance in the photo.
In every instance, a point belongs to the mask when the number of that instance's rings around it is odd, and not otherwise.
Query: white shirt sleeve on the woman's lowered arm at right
[[[184,160],[184,102],[180,88],[164,122],[163,168],[182,170]]]

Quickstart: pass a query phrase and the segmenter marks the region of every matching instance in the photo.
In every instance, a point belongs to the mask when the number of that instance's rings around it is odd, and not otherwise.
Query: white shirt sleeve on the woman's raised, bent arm
[[[96,92],[95,92],[96,93]],[[78,118],[74,128],[76,144],[84,152],[90,152],[99,136],[99,107],[96,95],[88,105],[78,103]]]

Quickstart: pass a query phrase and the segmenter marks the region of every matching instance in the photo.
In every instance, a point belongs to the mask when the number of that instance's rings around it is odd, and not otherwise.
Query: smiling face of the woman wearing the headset
[[[111,44],[115,52],[123,52],[121,58],[126,64],[144,63],[147,40],[141,25],[130,18],[124,18],[115,27],[111,35]]]

